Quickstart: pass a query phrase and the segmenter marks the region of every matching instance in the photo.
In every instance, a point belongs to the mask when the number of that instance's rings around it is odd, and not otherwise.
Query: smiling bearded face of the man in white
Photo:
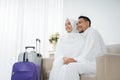
[[[79,32],[84,32],[89,27],[89,21],[86,21],[83,18],[78,19],[77,30]]]

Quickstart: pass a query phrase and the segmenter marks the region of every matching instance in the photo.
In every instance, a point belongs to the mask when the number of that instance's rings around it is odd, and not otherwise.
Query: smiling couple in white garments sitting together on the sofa
[[[80,16],[67,19],[67,34],[60,36],[49,80],[80,80],[80,74],[96,72],[96,57],[107,53],[100,34],[91,21]]]

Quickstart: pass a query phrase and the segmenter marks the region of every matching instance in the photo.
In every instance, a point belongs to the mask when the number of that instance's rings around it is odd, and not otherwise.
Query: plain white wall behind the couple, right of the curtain
[[[120,0],[64,0],[63,5],[64,21],[88,16],[107,45],[120,43]]]

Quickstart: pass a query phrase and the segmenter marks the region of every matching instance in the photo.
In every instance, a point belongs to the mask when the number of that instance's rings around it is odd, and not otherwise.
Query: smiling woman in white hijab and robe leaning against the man
[[[63,65],[67,65],[67,63],[65,63],[67,57],[74,58],[78,56],[76,53],[81,53],[79,49],[82,47],[82,43],[80,43],[82,40],[80,38],[80,34],[77,33],[76,23],[77,21],[74,19],[67,19],[65,22],[67,33],[60,36],[58,40],[54,57],[55,60],[53,62],[53,68],[50,72],[49,80],[57,80],[61,67]],[[81,46],[79,46],[78,43],[81,44]]]

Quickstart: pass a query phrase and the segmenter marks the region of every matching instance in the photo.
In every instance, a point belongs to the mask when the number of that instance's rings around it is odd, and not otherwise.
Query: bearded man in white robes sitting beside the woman
[[[78,18],[77,30],[84,39],[84,45],[80,49],[81,55],[73,58],[63,57],[64,65],[57,80],[80,80],[79,74],[96,72],[96,56],[107,53],[107,50],[100,34],[90,26],[91,21],[88,17]]]

